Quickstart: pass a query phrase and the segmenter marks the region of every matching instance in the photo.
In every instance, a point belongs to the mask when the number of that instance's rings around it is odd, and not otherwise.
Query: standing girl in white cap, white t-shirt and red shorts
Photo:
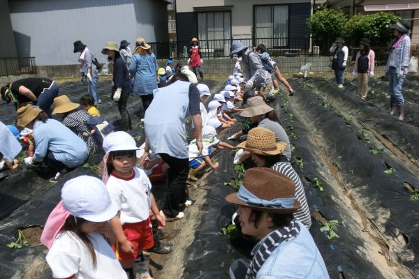
[[[148,261],[142,255],[143,250],[154,246],[149,210],[159,221],[159,229],[164,227],[166,221],[159,214],[147,174],[134,167],[138,147],[133,137],[125,132],[110,133],[103,140],[103,150],[103,181],[120,211],[120,215],[110,220],[117,236],[117,243],[112,248],[128,279],[135,278],[133,264],[137,255],[140,258],[141,278],[150,278]]]

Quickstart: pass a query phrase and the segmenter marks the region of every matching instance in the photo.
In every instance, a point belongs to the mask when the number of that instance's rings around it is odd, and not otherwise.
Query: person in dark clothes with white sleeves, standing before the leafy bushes
[[[332,59],[332,70],[335,70],[336,83],[339,88],[344,88],[344,72],[346,68],[346,61],[348,61],[348,47],[345,45],[345,41],[342,38],[337,38],[332,47],[330,47],[330,53],[333,55]]]

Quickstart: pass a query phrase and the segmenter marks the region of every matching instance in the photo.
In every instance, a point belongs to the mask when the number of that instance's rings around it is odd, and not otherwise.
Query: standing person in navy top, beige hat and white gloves
[[[117,47],[117,43],[108,41],[102,49],[102,54],[108,55],[108,60],[113,61],[112,99],[118,103],[119,114],[121,114],[122,118],[122,127],[124,130],[131,130],[131,116],[129,116],[128,110],[126,109],[126,103],[130,94],[133,93],[133,86],[131,86],[131,82],[129,81],[126,64],[119,54]],[[132,65],[133,62],[131,62]]]

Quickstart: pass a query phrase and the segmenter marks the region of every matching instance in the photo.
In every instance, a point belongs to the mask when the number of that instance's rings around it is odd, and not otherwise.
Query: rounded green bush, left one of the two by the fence
[[[307,20],[314,43],[321,47],[321,52],[328,52],[330,44],[344,35],[348,18],[341,10],[322,6]]]

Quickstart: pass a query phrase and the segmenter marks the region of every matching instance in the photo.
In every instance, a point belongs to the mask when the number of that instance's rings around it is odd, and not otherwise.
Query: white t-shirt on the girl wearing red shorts
[[[110,199],[121,211],[121,224],[138,223],[149,218],[151,207],[152,183],[142,169],[133,168],[133,175],[122,178],[111,174],[106,188]]]

